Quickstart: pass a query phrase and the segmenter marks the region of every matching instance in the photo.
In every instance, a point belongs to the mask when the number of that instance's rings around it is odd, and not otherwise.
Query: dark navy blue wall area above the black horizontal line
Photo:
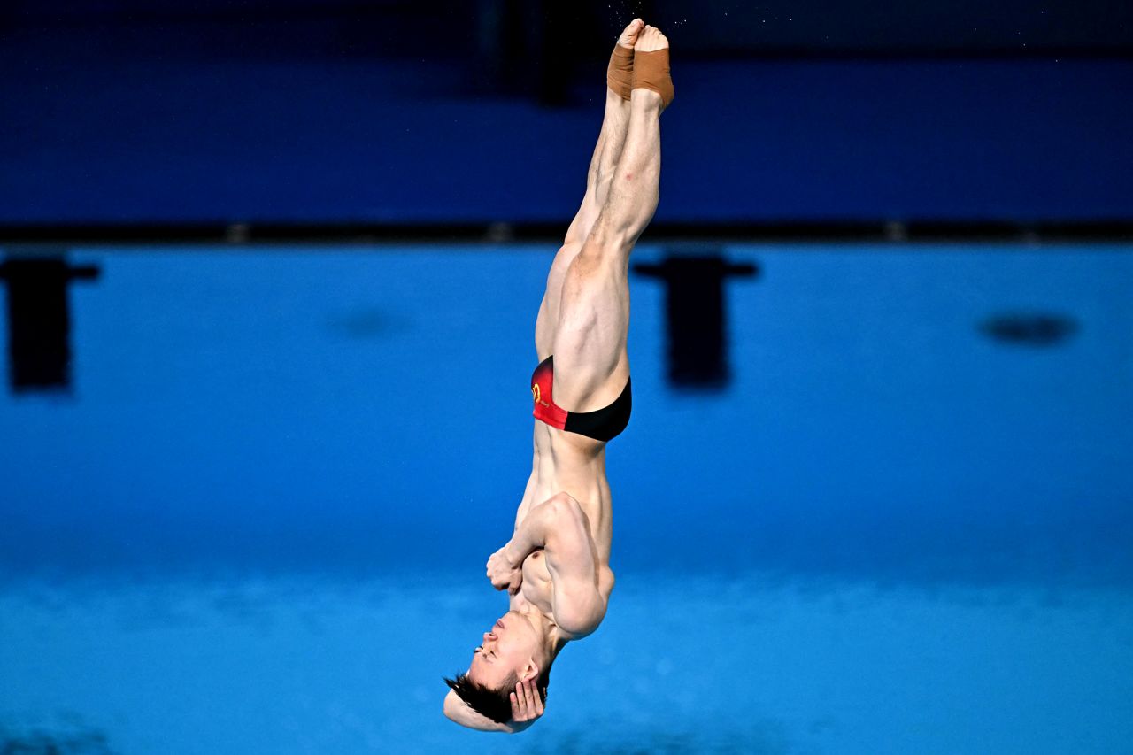
[[[1122,3],[780,5],[10,5],[0,223],[565,222],[646,11],[658,221],[1131,217]]]

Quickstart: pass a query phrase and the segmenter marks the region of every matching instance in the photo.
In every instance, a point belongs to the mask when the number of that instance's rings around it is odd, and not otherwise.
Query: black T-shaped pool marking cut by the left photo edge
[[[97,278],[97,268],[73,268],[62,254],[0,262],[0,280],[8,285],[8,380],[14,393],[70,390],[67,287],[73,280]]]

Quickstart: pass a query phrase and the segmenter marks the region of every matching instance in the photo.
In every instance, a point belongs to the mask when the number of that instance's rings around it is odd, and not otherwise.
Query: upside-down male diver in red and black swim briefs
[[[543,714],[551,664],[598,627],[614,587],[606,443],[630,417],[629,257],[659,198],[668,40],[634,19],[606,83],[586,195],[535,323],[531,476],[511,540],[487,562],[509,610],[484,633],[468,671],[445,679],[444,714],[475,729],[520,731]]]

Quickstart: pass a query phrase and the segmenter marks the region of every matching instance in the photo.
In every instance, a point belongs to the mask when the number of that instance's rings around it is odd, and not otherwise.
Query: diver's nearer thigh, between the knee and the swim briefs
[[[629,379],[630,291],[624,258],[586,248],[573,256],[563,277],[552,343],[555,402],[572,412],[607,406]]]

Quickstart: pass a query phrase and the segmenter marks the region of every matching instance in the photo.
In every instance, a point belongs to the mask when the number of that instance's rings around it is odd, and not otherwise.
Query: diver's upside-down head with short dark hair
[[[554,660],[543,628],[518,611],[508,611],[484,633],[466,673],[445,682],[482,715],[506,723],[511,699],[520,681],[534,680],[539,698],[547,699],[551,663]]]

